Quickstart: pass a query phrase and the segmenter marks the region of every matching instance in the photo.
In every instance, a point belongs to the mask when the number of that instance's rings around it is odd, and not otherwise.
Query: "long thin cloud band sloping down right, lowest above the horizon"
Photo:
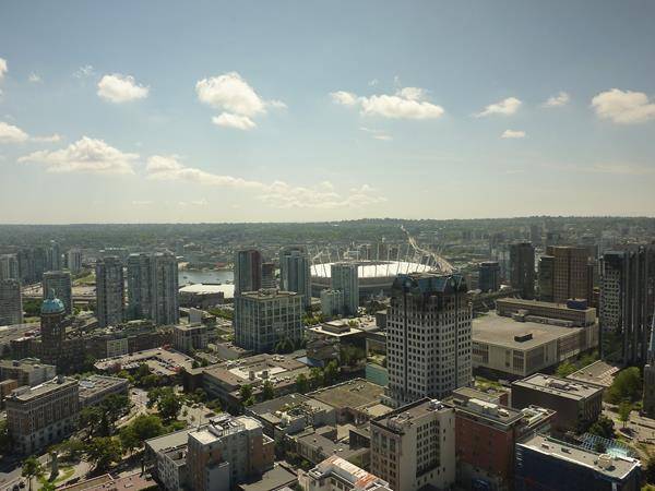
[[[334,185],[329,181],[311,187],[290,185],[282,181],[266,183],[189,167],[176,156],[154,155],[150,157],[146,172],[151,179],[184,181],[255,192],[258,200],[276,208],[356,207],[385,201],[384,197],[373,194],[372,189],[366,184],[344,195],[336,192]]]

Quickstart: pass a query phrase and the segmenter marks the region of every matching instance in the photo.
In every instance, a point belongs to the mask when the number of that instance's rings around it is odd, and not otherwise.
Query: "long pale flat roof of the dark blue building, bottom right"
[[[603,468],[598,466],[598,457],[600,454],[560,442],[559,440],[555,440],[544,434],[533,434],[527,440],[517,443],[516,445],[544,455],[549,455],[553,458],[573,462],[615,479],[626,478],[635,467],[641,465],[638,459],[629,457],[611,457],[611,465],[608,468]]]

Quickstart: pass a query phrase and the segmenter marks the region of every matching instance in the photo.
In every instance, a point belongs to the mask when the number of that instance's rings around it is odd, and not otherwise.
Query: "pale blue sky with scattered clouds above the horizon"
[[[652,216],[654,19],[2,2],[0,223]]]

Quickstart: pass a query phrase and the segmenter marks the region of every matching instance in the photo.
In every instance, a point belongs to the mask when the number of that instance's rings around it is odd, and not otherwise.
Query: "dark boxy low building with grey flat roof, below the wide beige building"
[[[553,375],[536,373],[512,383],[512,407],[539,406],[556,411],[556,431],[580,432],[588,428],[603,409],[603,387]]]

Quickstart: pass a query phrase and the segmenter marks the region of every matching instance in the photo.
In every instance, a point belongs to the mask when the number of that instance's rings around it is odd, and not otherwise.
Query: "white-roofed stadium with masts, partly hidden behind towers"
[[[433,264],[421,264],[412,261],[358,260],[359,297],[370,298],[389,295],[391,285],[398,274],[424,273],[434,270]],[[311,295],[320,297],[321,290],[330,288],[330,271],[332,262],[318,263],[311,266]]]

